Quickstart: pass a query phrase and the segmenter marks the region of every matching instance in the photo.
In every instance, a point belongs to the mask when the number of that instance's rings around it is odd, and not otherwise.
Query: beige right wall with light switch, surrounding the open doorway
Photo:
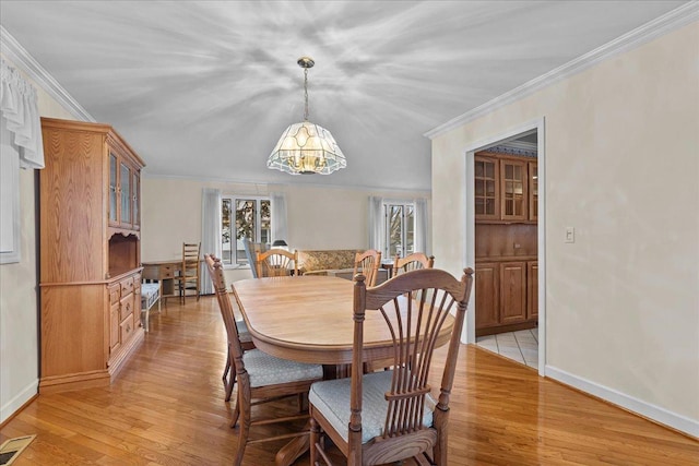
[[[695,22],[433,144],[433,247],[457,273],[465,248],[464,147],[545,118],[546,366],[620,393],[661,421],[667,411],[695,434],[698,63]],[[576,228],[572,244],[564,243],[566,226]]]

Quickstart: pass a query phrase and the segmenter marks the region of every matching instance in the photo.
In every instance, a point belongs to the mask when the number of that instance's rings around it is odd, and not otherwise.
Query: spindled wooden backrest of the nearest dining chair
[[[383,438],[424,429],[423,415],[433,351],[450,312],[455,312],[445,361],[434,426],[446,428],[461,330],[471,295],[473,270],[464,270],[461,280],[448,272],[425,268],[406,272],[368,288],[362,275],[354,290],[354,347],[350,419],[350,449],[362,447],[362,377],[365,314],[378,312],[393,336],[393,375],[386,393],[389,408]],[[368,316],[370,319],[371,315]],[[443,337],[443,335],[442,335]]]

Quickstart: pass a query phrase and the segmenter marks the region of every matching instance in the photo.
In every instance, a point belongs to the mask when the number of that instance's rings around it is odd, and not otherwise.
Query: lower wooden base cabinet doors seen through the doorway
[[[476,262],[476,336],[535,327],[536,261]]]

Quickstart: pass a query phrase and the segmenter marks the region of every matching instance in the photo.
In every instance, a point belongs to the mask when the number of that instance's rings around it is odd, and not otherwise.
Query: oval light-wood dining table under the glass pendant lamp
[[[301,275],[237,280],[233,289],[258,349],[279,358],[323,365],[325,378],[334,378],[346,377],[352,362],[354,286],[354,280],[335,276]],[[403,313],[406,306],[399,306]],[[449,342],[452,327],[453,319],[448,316],[436,346]],[[363,360],[391,358],[392,349],[382,314],[367,312]],[[308,447],[308,435],[298,437],[277,452],[275,462],[291,465]]]

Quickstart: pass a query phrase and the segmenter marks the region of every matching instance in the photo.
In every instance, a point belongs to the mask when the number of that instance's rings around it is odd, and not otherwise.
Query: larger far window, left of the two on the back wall
[[[222,198],[222,262],[247,264],[242,240],[268,244],[272,238],[269,198]]]

